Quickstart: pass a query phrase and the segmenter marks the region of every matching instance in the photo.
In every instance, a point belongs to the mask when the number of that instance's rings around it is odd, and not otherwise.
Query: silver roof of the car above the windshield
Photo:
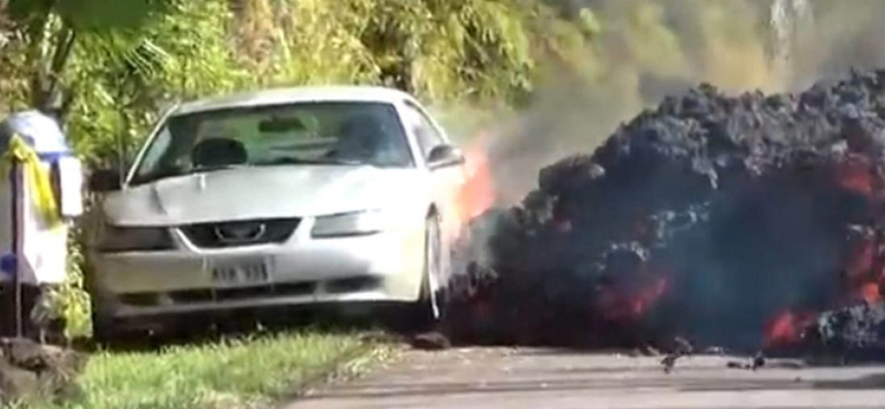
[[[171,115],[303,102],[375,102],[394,104],[404,99],[415,101],[414,97],[399,90],[383,86],[299,86],[242,92],[190,101],[176,107]]]

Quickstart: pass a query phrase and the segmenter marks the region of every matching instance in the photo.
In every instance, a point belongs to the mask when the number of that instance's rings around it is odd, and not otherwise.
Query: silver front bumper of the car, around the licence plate
[[[175,249],[92,253],[93,296],[107,318],[340,302],[410,302],[419,294],[424,227],[314,239],[304,219],[282,243],[201,249],[170,229]],[[219,268],[262,265],[256,280]]]

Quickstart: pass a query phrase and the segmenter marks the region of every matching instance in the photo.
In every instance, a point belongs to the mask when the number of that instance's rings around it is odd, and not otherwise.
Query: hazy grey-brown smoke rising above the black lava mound
[[[490,147],[503,203],[538,170],[592,151],[620,123],[699,83],[727,93],[804,88],[851,67],[885,64],[878,0],[562,0],[592,12],[596,32],[576,61],[543,75],[530,107]]]

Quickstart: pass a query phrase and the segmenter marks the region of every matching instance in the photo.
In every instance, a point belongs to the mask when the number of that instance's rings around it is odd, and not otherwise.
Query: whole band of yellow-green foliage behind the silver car
[[[592,25],[592,14],[573,23],[538,0],[137,0],[119,15],[118,0],[73,1],[10,8],[24,9],[13,13],[20,21],[50,10],[55,25],[77,30],[56,74],[73,97],[74,147],[91,162],[131,156],[168,102],[239,88],[384,84],[436,103],[521,101],[541,62],[580,50]],[[20,50],[34,41],[22,30]],[[10,51],[8,60],[20,54]],[[18,67],[0,90],[25,88],[14,78],[29,64],[0,59],[0,73]]]

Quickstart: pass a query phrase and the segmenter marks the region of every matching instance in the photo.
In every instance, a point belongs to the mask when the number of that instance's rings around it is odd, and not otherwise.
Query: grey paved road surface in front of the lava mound
[[[309,391],[287,409],[342,408],[885,408],[885,366],[732,369],[733,357],[550,349],[407,352],[363,378]]]

